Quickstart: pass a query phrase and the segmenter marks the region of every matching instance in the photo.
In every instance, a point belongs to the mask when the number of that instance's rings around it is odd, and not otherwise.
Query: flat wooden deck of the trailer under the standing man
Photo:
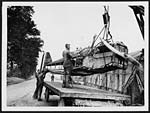
[[[105,91],[84,85],[73,85],[73,88],[62,88],[62,83],[45,81],[44,85],[60,97],[106,100],[130,100],[130,96]]]

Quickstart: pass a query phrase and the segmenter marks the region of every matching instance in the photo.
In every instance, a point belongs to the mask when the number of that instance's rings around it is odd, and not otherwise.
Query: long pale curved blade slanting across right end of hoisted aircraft
[[[109,43],[107,43],[104,39],[101,39],[101,41],[103,42],[103,44],[108,47],[112,52],[114,52],[115,54],[121,56],[122,58],[129,60],[130,62],[132,62],[133,64],[139,65],[140,67],[142,66],[134,57],[132,57],[129,54],[125,54],[123,52],[118,51],[117,49],[115,49],[114,47],[112,47]]]

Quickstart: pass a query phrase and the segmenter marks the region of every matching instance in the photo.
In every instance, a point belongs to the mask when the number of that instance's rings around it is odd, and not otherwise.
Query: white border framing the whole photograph
[[[145,6],[145,105],[135,107],[7,107],[6,94],[6,72],[7,72],[7,6],[21,6],[21,5],[38,5],[45,3],[65,3],[65,2],[2,2],[2,111],[147,111],[148,110],[148,49],[149,49],[149,22],[148,22],[148,2],[71,2],[71,3],[98,3],[104,5],[111,4],[130,4],[130,5],[144,5]],[[66,2],[68,3],[68,2]]]

